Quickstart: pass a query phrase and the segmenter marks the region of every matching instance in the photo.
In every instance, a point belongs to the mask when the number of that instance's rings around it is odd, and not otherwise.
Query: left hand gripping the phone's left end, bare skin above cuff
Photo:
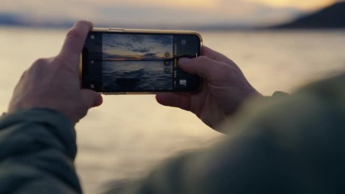
[[[100,94],[80,88],[79,59],[91,22],[79,21],[68,32],[61,52],[36,60],[14,89],[9,112],[25,108],[51,108],[75,124],[89,108],[102,104]]]

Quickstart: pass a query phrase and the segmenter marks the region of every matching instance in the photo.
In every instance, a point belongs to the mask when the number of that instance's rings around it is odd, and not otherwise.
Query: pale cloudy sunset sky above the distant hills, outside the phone
[[[0,13],[27,20],[87,19],[113,26],[267,25],[291,20],[336,0],[0,0]]]

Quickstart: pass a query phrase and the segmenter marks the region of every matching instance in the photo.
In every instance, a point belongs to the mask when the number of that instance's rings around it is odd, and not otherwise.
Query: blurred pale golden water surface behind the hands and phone
[[[67,30],[0,27],[0,110],[23,71],[59,52]],[[291,92],[345,70],[345,31],[202,32],[204,44],[238,63],[264,95]],[[222,135],[153,95],[103,96],[77,124],[76,167],[85,193],[110,180],[144,176],[163,159],[211,145]]]

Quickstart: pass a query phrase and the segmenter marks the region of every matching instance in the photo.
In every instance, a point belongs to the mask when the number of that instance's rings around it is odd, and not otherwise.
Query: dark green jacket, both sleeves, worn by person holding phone
[[[345,75],[247,103],[216,146],[108,193],[345,193]],[[82,193],[73,126],[49,109],[0,121],[0,193]],[[116,173],[116,172],[113,172]]]

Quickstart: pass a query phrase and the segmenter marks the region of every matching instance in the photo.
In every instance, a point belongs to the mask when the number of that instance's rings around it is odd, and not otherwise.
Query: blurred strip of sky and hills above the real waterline
[[[320,13],[314,13],[327,8]],[[156,29],[256,29],[345,27],[341,0],[2,0],[0,25],[70,27],[77,20],[96,26]]]

